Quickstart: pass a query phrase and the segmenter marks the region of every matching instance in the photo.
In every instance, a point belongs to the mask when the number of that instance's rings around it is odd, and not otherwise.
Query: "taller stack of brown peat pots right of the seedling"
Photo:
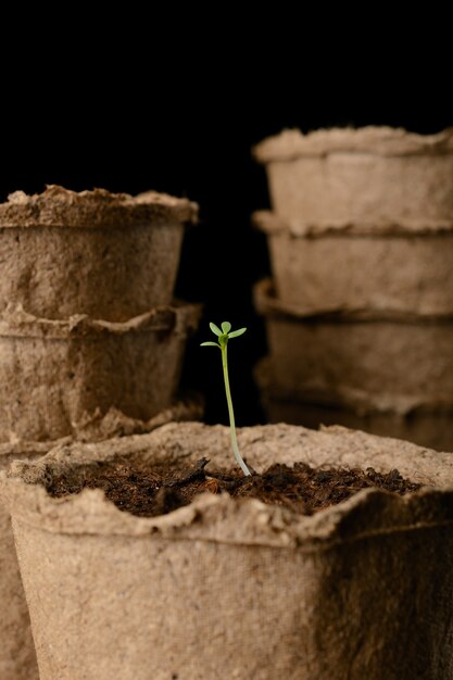
[[[453,129],[287,130],[254,151],[269,419],[453,450]]]

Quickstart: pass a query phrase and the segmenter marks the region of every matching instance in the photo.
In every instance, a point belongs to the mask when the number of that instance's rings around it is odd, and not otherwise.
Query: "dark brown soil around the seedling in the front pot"
[[[262,475],[244,477],[239,469],[206,469],[207,458],[191,467],[130,467],[124,463],[87,467],[77,480],[53,477],[47,490],[60,498],[84,488],[103,489],[123,511],[140,517],[164,515],[188,505],[198,493],[229,493],[289,507],[302,515],[335,505],[361,489],[375,487],[404,495],[420,484],[403,479],[398,470],[387,475],[372,467],[361,469],[314,469],[304,463],[273,465]]]

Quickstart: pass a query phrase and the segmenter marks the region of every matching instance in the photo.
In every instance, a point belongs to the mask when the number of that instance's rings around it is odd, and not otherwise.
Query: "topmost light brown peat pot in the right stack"
[[[254,149],[273,207],[290,225],[451,227],[453,128],[285,130]]]

